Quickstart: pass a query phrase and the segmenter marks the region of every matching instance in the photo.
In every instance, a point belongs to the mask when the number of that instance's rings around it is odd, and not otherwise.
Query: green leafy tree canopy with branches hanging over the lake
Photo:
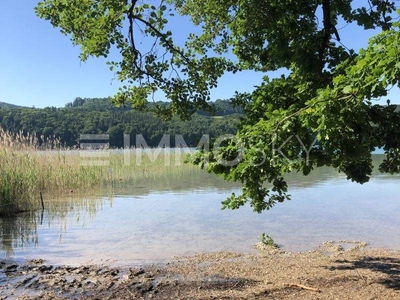
[[[243,183],[242,194],[224,207],[250,201],[261,212],[289,199],[288,172],[307,175],[327,165],[365,183],[376,147],[386,153],[380,171],[400,172],[400,112],[374,104],[399,85],[395,2],[47,0],[36,11],[81,46],[82,60],[119,52],[109,65],[126,86],[113,101],[146,108],[149,96],[162,91],[171,105],[155,111],[164,118],[188,119],[209,108],[210,89],[225,72],[282,71],[265,76],[252,93],[236,94],[245,116],[235,138],[192,159]],[[168,30],[168,20],[178,18],[173,13],[200,28],[184,45]],[[381,33],[357,53],[340,41],[350,23]],[[143,35],[147,47],[138,46]]]

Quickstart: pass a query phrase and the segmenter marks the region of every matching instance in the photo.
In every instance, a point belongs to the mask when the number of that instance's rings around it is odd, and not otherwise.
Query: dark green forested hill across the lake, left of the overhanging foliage
[[[160,105],[168,105],[159,102]],[[63,108],[0,107],[0,127],[13,133],[36,133],[37,136],[55,136],[66,146],[79,144],[81,134],[108,134],[111,147],[123,147],[123,134],[131,136],[130,145],[142,134],[150,147],[157,147],[164,134],[181,134],[188,146],[196,146],[203,134],[216,137],[235,133],[242,111],[233,108],[229,101],[217,100],[215,114],[206,112],[193,115],[183,122],[179,118],[163,122],[148,112],[138,112],[129,107],[115,107],[106,98],[76,98]],[[171,138],[174,146],[174,138]]]

